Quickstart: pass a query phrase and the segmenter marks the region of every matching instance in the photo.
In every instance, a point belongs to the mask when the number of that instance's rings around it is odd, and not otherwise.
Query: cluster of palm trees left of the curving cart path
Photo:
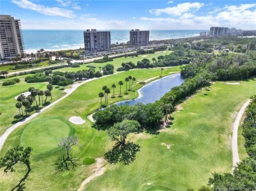
[[[18,111],[20,112],[20,114],[23,115],[23,111],[22,111],[22,106],[25,108],[26,111],[26,116],[28,115],[28,111],[30,110],[30,107],[33,104],[33,101],[35,101],[36,106],[38,107],[41,102],[43,105],[43,95],[45,95],[45,102],[47,100],[47,97],[51,96],[51,99],[53,99],[52,94],[51,94],[51,90],[53,90],[53,85],[52,84],[48,84],[47,85],[47,90],[45,90],[45,92],[43,92],[43,90],[38,90],[35,89],[33,87],[28,88],[28,91],[30,92],[30,96],[24,96],[24,94],[20,94],[20,96],[17,97],[17,101],[18,103],[15,104],[16,108],[18,108]],[[37,104],[37,98],[36,96],[38,96],[38,101],[39,104]]]

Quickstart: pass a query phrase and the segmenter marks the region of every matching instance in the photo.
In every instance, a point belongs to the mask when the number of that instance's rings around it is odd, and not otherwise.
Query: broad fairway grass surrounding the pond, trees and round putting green
[[[176,67],[177,70],[178,67]],[[163,73],[175,71],[165,69]],[[44,125],[47,119],[54,117],[68,120],[70,116],[81,116],[99,107],[98,92],[103,85],[111,86],[128,75],[143,80],[160,75],[160,69],[142,69],[126,71],[106,78],[99,78],[80,86],[73,94],[66,97],[36,119],[15,130],[7,139],[1,156],[14,145],[22,143],[22,134],[33,122],[41,120],[41,127],[49,130],[51,124]],[[118,87],[118,86],[117,86]],[[140,88],[136,84],[133,88]],[[238,112],[250,96],[256,94],[255,80],[240,82],[238,86],[215,82],[192,98],[186,100],[181,111],[173,114],[175,118],[171,128],[160,131],[159,135],[142,133],[131,135],[130,141],[140,145],[140,152],[131,165],[106,165],[104,175],[97,177],[87,184],[85,190],[187,190],[197,189],[207,183],[213,172],[229,172],[232,168],[232,153],[230,137],[234,113]],[[119,87],[116,88],[118,92]],[[122,87],[125,92],[125,84]],[[111,95],[110,95],[111,96]],[[110,98],[110,103],[121,100]],[[122,99],[137,96],[137,92],[129,92]],[[71,154],[81,159],[81,165],[75,171],[56,173],[53,168],[54,160],[64,154],[64,150],[53,150],[48,154],[32,152],[32,171],[26,181],[28,190],[77,190],[91,173],[93,165],[83,165],[84,158],[104,157],[104,153],[112,148],[114,142],[108,139],[106,131],[91,128],[92,123],[74,125],[67,122],[79,138],[82,147],[75,146]],[[171,144],[170,150],[161,143]],[[3,176],[1,171],[0,187],[10,190],[26,173],[26,168],[17,166],[14,173]],[[149,184],[148,184],[149,183]]]

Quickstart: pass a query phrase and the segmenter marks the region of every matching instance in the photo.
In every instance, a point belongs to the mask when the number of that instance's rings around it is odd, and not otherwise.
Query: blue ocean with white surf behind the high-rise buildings
[[[206,30],[150,30],[150,41],[195,37]],[[44,50],[68,50],[84,48],[83,30],[32,30],[22,29],[26,53]],[[111,43],[127,43],[129,30],[110,30]]]

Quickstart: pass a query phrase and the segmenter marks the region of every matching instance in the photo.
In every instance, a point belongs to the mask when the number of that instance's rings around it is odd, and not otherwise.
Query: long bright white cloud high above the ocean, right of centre
[[[156,14],[159,16],[161,13],[166,13],[169,15],[180,16],[183,12],[188,12],[191,9],[200,9],[203,7],[204,3],[180,3],[176,7],[166,7],[165,9],[152,9],[149,10],[151,14]]]

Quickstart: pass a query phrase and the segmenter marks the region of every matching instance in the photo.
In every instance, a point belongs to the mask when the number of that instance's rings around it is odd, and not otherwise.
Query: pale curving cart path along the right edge
[[[234,121],[234,124],[232,124],[232,155],[233,155],[232,171],[234,171],[234,167],[236,167],[236,164],[240,162],[239,156],[238,156],[238,126],[240,124],[240,120],[244,114],[244,111],[246,107],[249,105],[250,101],[251,100],[248,100],[244,103],[244,105],[238,112],[238,115],[236,116],[236,120]]]

